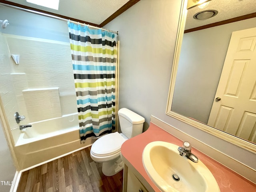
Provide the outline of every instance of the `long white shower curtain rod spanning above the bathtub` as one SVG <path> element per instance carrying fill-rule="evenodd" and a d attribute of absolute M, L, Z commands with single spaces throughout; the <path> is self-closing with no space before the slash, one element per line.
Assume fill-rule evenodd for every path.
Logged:
<path fill-rule="evenodd" d="M 41 13 L 41 12 L 38 12 L 38 11 L 29 10 L 29 9 L 25 9 L 25 8 L 13 6 L 13 5 L 8 5 L 8 4 L 4 4 L 4 3 L 0 3 L 0 5 L 6 6 L 6 7 L 11 7 L 11 8 L 18 9 L 18 10 L 23 10 L 23 11 L 26 11 L 26 12 L 32 12 L 32 13 L 35 13 L 35 14 L 39 14 L 39 15 L 43 15 L 43 16 L 55 18 L 55 19 L 58 19 L 58 20 L 66 21 L 66 22 L 69 21 L 69 22 L 72 22 L 72 23 L 75 23 L 75 24 L 80 24 L 80 25 L 84 25 L 84 26 L 87 25 L 87 26 L 89 26 L 90 28 L 101 29 L 101 30 L 108 31 L 108 32 L 112 32 L 112 33 L 115 33 L 115 34 L 118 35 L 118 31 L 112 31 L 112 30 L 108 30 L 108 29 L 96 27 L 96 26 L 93 26 L 93 25 L 89 25 L 89 24 L 85 24 L 85 23 L 81 23 L 81 22 L 77 22 L 77 21 L 72 21 L 72 20 L 70 20 L 70 19 L 65 19 L 65 18 L 62 18 L 62 17 L 58 17 L 58 16 L 46 14 L 46 13 Z"/>

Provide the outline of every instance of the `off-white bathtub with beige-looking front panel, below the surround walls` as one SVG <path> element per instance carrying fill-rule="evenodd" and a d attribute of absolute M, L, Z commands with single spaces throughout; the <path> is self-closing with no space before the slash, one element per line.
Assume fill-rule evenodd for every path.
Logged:
<path fill-rule="evenodd" d="M 40 122 L 20 130 L 14 150 L 20 170 L 29 169 L 50 160 L 65 156 L 92 144 L 81 144 L 78 114 L 64 115 Z"/>

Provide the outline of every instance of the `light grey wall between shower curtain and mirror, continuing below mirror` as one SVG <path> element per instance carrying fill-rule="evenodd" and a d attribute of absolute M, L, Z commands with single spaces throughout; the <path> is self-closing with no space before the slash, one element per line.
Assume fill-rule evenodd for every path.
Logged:
<path fill-rule="evenodd" d="M 256 170 L 255 153 L 165 113 L 180 7 L 180 1 L 140 0 L 104 26 L 120 31 L 119 108 L 145 117 L 144 131 L 153 115 Z"/>

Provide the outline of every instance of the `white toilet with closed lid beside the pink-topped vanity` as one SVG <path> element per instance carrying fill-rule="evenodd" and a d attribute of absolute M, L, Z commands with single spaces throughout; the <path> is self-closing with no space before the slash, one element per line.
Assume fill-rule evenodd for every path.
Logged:
<path fill-rule="evenodd" d="M 114 132 L 100 137 L 92 144 L 90 156 L 95 162 L 102 163 L 102 173 L 112 176 L 124 168 L 120 157 L 122 144 L 142 133 L 145 119 L 127 108 L 118 111 L 122 133 Z"/>

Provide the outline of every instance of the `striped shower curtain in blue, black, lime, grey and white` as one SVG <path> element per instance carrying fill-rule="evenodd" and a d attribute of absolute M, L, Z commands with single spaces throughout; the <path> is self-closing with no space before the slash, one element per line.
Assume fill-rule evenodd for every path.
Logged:
<path fill-rule="evenodd" d="M 115 130 L 116 34 L 68 22 L 81 141 Z"/>

